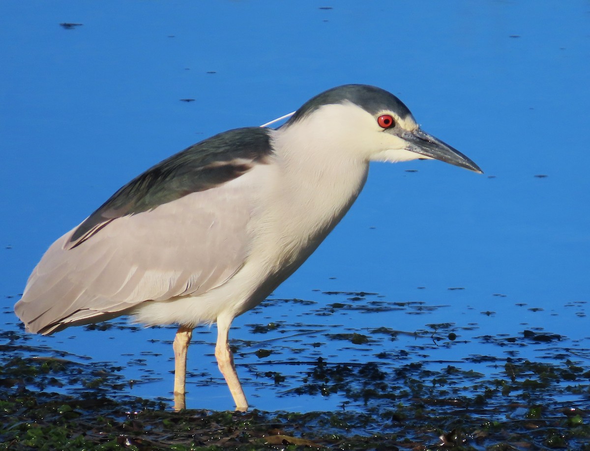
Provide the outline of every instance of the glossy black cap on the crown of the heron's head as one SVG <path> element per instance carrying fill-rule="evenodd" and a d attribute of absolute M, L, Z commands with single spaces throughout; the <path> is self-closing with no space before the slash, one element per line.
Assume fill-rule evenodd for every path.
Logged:
<path fill-rule="evenodd" d="M 293 114 L 293 116 L 291 116 L 289 121 L 284 124 L 284 127 L 288 127 L 289 124 L 301 120 L 323 105 L 343 103 L 347 100 L 371 114 L 377 114 L 380 111 L 389 110 L 394 111 L 401 118 L 412 115 L 408 110 L 408 107 L 405 106 L 399 98 L 395 97 L 394 94 L 391 94 L 388 91 L 366 84 L 345 84 L 324 91 L 316 97 L 308 100 L 295 112 L 295 114 Z"/>

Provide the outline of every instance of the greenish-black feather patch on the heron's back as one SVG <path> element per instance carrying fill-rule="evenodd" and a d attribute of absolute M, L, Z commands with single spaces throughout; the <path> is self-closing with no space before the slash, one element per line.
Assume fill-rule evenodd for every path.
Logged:
<path fill-rule="evenodd" d="M 70 237 L 74 248 L 113 219 L 134 215 L 240 177 L 272 152 L 268 129 L 249 127 L 212 136 L 135 177 L 92 213 Z"/>

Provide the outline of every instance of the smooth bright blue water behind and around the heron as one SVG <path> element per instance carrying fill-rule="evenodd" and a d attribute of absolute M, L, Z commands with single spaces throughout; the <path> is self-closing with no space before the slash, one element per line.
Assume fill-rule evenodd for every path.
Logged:
<path fill-rule="evenodd" d="M 289 332 L 281 337 L 323 332 L 317 340 L 303 335 L 303 344 L 277 337 L 273 349 L 282 354 L 266 360 L 331 355 L 333 361 L 371 361 L 382 347 L 411 352 L 415 340 L 363 347 L 324 334 L 369 334 L 382 326 L 414 332 L 451 322 L 458 342 L 467 343 L 422 350 L 415 358 L 462 361 L 504 353 L 476 337 L 541 328 L 567 337 L 563 346 L 579 348 L 588 365 L 590 5 L 446 5 L 1 2 L 4 327 L 17 327 L 11 306 L 50 243 L 132 177 L 219 131 L 293 111 L 326 88 L 367 83 L 399 96 L 424 130 L 467 154 L 485 174 L 440 162 L 375 164 L 348 216 L 273 294 L 316 304 L 277 302 L 248 312 L 231 336 L 237 343 L 266 340 L 247 324 L 285 321 Z M 83 25 L 65 29 L 62 22 Z M 336 302 L 325 291 L 444 307 L 424 314 L 320 315 L 317 310 Z M 463 330 L 470 324 L 476 329 Z M 152 338 L 158 342 L 149 343 Z M 172 338 L 169 328 L 71 328 L 31 343 L 96 361 L 131 360 L 127 377 L 147 379 L 150 370 L 158 380 L 131 393 L 168 397 L 173 366 L 163 341 Z M 219 384 L 189 383 L 189 407 L 231 408 L 212 356 L 215 328 L 195 340 L 204 343 L 193 345 L 189 365 Z M 324 344 L 313 348 L 314 341 Z M 277 400 L 283 389 L 255 376 L 265 359 L 253 355 L 256 344 L 248 349 L 236 360 L 255 406 L 316 410 L 340 401 Z M 543 350 L 519 353 L 539 357 Z M 280 363 L 266 367 L 299 371 Z"/>

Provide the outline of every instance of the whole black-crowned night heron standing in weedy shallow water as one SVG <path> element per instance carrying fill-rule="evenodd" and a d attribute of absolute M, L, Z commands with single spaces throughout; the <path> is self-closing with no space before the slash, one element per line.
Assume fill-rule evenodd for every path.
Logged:
<path fill-rule="evenodd" d="M 422 131 L 394 95 L 336 87 L 278 129 L 225 131 L 156 164 L 55 241 L 15 312 L 32 333 L 130 314 L 179 324 L 175 408 L 185 407 L 192 330 L 217 322 L 215 357 L 237 410 L 248 403 L 228 344 L 348 211 L 369 162 L 477 164 Z"/>

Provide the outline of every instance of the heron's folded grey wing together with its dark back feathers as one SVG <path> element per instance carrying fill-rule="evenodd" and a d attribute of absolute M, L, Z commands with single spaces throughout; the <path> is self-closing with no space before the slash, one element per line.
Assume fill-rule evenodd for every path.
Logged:
<path fill-rule="evenodd" d="M 232 149 L 244 146 L 230 139 L 217 160 L 193 163 L 200 183 L 183 180 L 185 150 L 134 179 L 55 241 L 15 305 L 27 330 L 52 333 L 106 320 L 143 301 L 202 294 L 230 279 L 247 258 L 248 222 L 263 183 L 257 167 L 270 152 L 267 140 L 251 147 L 249 157 L 236 154 Z M 219 167 L 225 167 L 223 177 Z M 165 177 L 156 182 L 156 174 Z"/>

